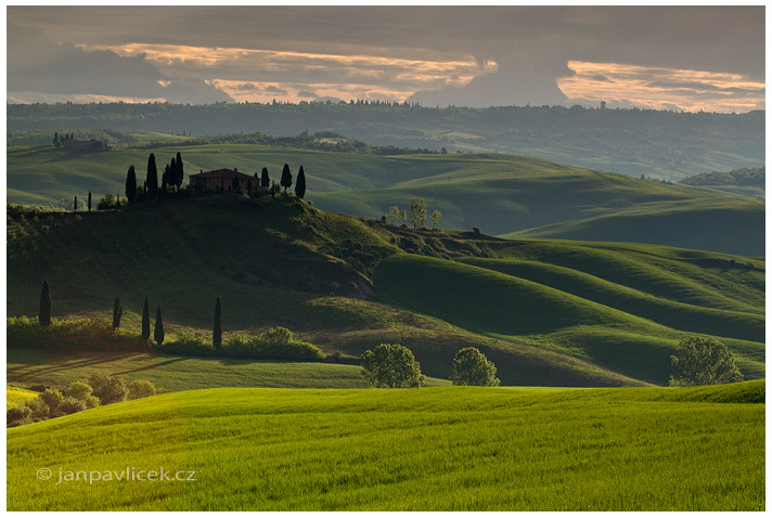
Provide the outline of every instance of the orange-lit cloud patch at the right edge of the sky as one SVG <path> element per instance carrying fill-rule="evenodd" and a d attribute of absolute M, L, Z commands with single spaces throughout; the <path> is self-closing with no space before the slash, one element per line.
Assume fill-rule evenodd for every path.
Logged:
<path fill-rule="evenodd" d="M 738 74 L 580 61 L 569 61 L 568 68 L 576 74 L 557 85 L 574 102 L 684 112 L 764 109 L 765 85 Z"/>

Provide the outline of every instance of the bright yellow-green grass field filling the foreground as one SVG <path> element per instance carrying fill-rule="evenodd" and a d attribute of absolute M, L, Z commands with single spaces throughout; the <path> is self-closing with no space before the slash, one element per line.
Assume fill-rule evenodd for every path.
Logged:
<path fill-rule="evenodd" d="M 8 508 L 763 510 L 763 381 L 175 392 L 10 429 Z M 127 467 L 195 481 L 56 484 Z"/>

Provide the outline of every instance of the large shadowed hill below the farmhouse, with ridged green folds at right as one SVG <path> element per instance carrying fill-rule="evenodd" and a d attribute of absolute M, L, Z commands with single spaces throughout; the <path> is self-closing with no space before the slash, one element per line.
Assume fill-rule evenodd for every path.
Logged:
<path fill-rule="evenodd" d="M 107 318 L 120 296 L 121 326 L 138 333 L 147 295 L 169 336 L 208 333 L 220 296 L 228 333 L 282 325 L 357 357 L 400 342 L 438 378 L 474 346 L 505 385 L 666 384 L 676 344 L 695 333 L 764 375 L 764 262 L 742 256 L 413 231 L 282 196 L 203 196 L 11 218 L 9 314 L 37 314 L 42 279 L 55 316 Z"/>

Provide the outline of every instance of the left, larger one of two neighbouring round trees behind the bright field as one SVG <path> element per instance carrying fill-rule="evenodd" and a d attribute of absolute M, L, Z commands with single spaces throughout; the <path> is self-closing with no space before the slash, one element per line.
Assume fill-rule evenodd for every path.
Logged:
<path fill-rule="evenodd" d="M 421 365 L 407 347 L 381 344 L 362 354 L 362 374 L 378 388 L 413 388 L 424 385 Z"/>

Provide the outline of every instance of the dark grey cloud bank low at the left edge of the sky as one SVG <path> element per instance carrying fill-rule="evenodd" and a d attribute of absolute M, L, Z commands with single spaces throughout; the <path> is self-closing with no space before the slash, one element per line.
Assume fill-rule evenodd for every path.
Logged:
<path fill-rule="evenodd" d="M 164 99 L 178 103 L 232 101 L 200 78 L 168 78 L 143 54 L 85 51 L 42 33 L 8 26 L 8 90 L 61 95 Z"/>

